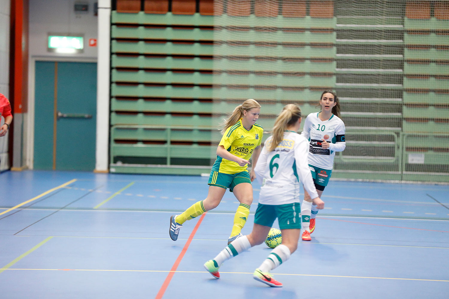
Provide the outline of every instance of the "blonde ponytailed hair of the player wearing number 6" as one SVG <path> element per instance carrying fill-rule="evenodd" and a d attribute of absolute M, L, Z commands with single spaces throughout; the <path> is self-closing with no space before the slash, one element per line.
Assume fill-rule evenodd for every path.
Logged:
<path fill-rule="evenodd" d="M 297 104 L 285 105 L 276 118 L 273 127 L 271 143 L 267 144 L 268 151 L 273 151 L 284 137 L 287 126 L 295 124 L 301 118 L 301 108 Z"/>

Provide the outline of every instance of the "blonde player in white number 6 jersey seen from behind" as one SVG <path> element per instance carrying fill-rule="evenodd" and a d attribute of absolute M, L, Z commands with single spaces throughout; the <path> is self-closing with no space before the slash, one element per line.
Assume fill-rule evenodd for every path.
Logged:
<path fill-rule="evenodd" d="M 273 134 L 266 140 L 255 166 L 256 179 L 262 187 L 253 230 L 251 234 L 232 241 L 213 260 L 204 264 L 213 277 L 220 278 L 218 269 L 225 260 L 263 243 L 278 218 L 282 244 L 277 245 L 255 269 L 253 277 L 269 286 L 282 286 L 269 271 L 288 260 L 298 247 L 301 233 L 299 182 L 303 182 L 317 208 L 324 208 L 308 168 L 308 141 L 296 133 L 300 124 L 301 109 L 295 104 L 286 105 L 277 117 Z"/>

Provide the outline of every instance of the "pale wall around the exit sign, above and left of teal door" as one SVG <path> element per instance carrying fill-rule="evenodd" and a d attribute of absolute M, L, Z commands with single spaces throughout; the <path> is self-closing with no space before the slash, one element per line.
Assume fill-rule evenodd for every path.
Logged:
<path fill-rule="evenodd" d="M 101 0 L 29 0 L 28 113 L 24 117 L 26 124 L 24 152 L 25 164 L 31 169 L 34 151 L 35 61 L 97 62 L 98 47 L 91 47 L 88 43 L 89 39 L 97 39 L 98 45 L 98 16 L 94 15 L 96 2 Z M 75 12 L 75 3 L 88 4 L 88 11 Z M 48 52 L 49 33 L 84 36 L 84 52 L 73 54 Z"/>

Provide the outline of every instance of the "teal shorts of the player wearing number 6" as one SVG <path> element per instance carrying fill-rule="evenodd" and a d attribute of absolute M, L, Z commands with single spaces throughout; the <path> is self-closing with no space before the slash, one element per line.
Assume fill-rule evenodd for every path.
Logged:
<path fill-rule="evenodd" d="M 255 211 L 254 223 L 272 227 L 274 220 L 281 230 L 301 229 L 301 207 L 292 204 L 259 204 Z"/>

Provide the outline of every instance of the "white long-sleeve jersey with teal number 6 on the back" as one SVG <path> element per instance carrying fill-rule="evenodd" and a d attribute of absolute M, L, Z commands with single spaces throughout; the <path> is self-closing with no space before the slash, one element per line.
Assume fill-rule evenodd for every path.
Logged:
<path fill-rule="evenodd" d="M 266 140 L 254 169 L 262 184 L 259 203 L 299 203 L 300 182 L 311 198 L 318 197 L 308 166 L 308 140 L 293 131 L 285 131 L 282 141 L 268 152 L 272 139 L 270 136 Z"/>

